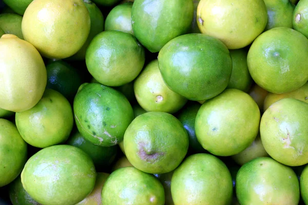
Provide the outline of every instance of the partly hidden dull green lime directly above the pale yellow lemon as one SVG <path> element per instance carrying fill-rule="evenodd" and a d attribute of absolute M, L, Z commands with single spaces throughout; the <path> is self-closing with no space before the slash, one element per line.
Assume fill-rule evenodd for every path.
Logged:
<path fill-rule="evenodd" d="M 24 39 L 22 33 L 23 16 L 15 13 L 0 14 L 0 28 L 7 34 L 13 34 L 20 39 Z"/>

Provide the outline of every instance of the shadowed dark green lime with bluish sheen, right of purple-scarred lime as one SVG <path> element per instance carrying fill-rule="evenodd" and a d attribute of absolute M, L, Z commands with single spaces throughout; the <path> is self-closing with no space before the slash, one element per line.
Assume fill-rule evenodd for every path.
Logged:
<path fill-rule="evenodd" d="M 195 132 L 195 120 L 200 107 L 200 103 L 188 101 L 185 107 L 177 113 L 177 118 L 182 122 L 187 131 L 189 139 L 188 149 L 192 153 L 205 152 L 204 148 L 200 145 Z"/>

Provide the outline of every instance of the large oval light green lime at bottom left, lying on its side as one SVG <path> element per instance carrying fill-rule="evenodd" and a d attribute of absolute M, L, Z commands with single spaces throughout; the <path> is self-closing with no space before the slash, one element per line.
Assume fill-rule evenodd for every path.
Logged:
<path fill-rule="evenodd" d="M 96 177 L 89 155 L 70 145 L 38 151 L 28 159 L 21 174 L 28 194 L 46 205 L 73 205 L 82 201 L 91 193 Z"/>

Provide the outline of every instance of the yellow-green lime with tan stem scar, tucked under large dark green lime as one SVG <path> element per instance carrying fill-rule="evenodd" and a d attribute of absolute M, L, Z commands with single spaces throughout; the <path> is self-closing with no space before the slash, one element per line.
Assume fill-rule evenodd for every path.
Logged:
<path fill-rule="evenodd" d="M 187 102 L 165 84 L 157 59 L 152 60 L 134 80 L 133 88 L 139 105 L 147 112 L 175 113 Z"/>

